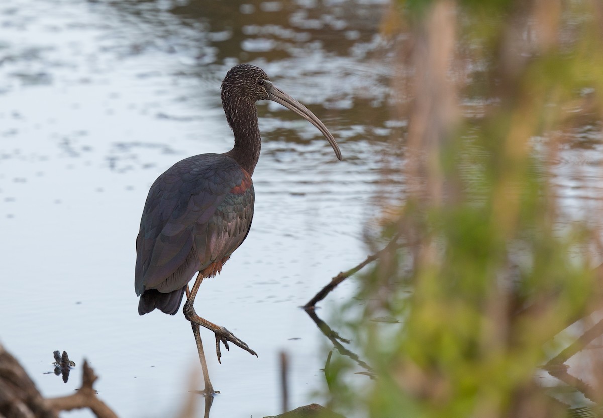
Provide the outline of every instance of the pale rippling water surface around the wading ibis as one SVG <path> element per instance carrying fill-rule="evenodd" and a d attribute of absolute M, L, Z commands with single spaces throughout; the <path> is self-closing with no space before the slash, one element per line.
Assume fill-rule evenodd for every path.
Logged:
<path fill-rule="evenodd" d="M 395 51 L 378 34 L 386 7 L 385 0 L 0 5 L 0 338 L 44 395 L 77 388 L 77 379 L 58 385 L 42 374 L 48 352 L 69 347 L 76 363 L 90 360 L 99 396 L 120 416 L 165 416 L 187 399 L 189 370 L 198 368 L 189 326 L 180 314 L 136 314 L 134 239 L 159 173 L 232 146 L 219 86 L 227 69 L 250 62 L 324 122 L 344 161 L 313 126 L 259 104 L 254 226 L 221 276 L 201 285 L 197 303 L 201 316 L 244 334 L 259 359 L 231 351 L 222 365 L 210 362 L 222 393 L 212 414 L 276 414 L 283 349 L 291 354 L 291 405 L 320 402 L 310 394 L 324 381 L 324 337 L 298 306 L 370 252 L 363 237 L 379 213 L 376 191 L 403 189 L 397 167 L 406 123 L 390 114 Z M 600 126 L 576 129 L 566 144 L 555 181 L 569 216 L 579 216 L 602 192 Z M 352 286 L 341 284 L 323 303 L 346 299 Z M 57 332 L 65 318 L 69 330 Z"/>

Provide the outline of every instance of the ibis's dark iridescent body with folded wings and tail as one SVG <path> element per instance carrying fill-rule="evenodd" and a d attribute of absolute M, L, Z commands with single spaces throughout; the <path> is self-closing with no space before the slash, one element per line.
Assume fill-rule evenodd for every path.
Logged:
<path fill-rule="evenodd" d="M 253 202 L 251 176 L 226 154 L 185 158 L 160 175 L 136 238 L 139 313 L 176 313 L 196 272 L 219 272 L 247 237 Z"/>

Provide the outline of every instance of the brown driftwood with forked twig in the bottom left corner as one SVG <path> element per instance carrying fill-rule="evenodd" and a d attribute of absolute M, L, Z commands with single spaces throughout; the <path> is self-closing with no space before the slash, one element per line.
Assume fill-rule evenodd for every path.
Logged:
<path fill-rule="evenodd" d="M 44 399 L 21 364 L 0 345 L 0 417 L 58 418 L 60 411 L 90 408 L 98 418 L 117 418 L 93 388 L 98 377 L 84 362 L 81 388 L 74 395 Z"/>

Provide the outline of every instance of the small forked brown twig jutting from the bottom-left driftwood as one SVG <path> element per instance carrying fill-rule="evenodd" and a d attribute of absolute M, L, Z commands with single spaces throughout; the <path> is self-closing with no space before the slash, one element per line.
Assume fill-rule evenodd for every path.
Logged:
<path fill-rule="evenodd" d="M 57 413 L 59 411 L 90 408 L 98 418 L 117 418 L 115 413 L 96 397 L 96 391 L 92 387 L 96 379 L 98 377 L 95 375 L 94 370 L 88 365 L 87 361 L 84 361 L 84 372 L 80 390 L 74 393 L 74 395 L 46 399 L 46 406 Z"/>

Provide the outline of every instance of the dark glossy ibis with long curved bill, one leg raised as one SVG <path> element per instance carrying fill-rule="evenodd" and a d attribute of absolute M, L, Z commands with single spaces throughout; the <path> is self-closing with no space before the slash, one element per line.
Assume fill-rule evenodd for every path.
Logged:
<path fill-rule="evenodd" d="M 200 326 L 226 349 L 231 342 L 253 355 L 247 344 L 223 326 L 195 312 L 193 306 L 204 278 L 215 276 L 247 237 L 253 218 L 254 191 L 251 175 L 260 155 L 260 131 L 255 102 L 271 100 L 294 111 L 326 137 L 341 160 L 341 152 L 314 114 L 278 89 L 258 67 L 233 67 L 222 82 L 222 105 L 235 135 L 235 146 L 224 154 L 200 154 L 185 158 L 159 176 L 149 190 L 140 231 L 136 238 L 136 294 L 138 313 L 155 308 L 175 314 L 186 292 L 186 319 L 191 322 L 205 381 L 204 393 L 213 393 L 201 345 Z M 198 272 L 189 292 L 188 282 Z"/>

